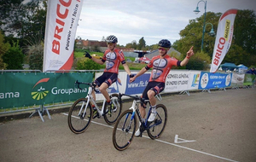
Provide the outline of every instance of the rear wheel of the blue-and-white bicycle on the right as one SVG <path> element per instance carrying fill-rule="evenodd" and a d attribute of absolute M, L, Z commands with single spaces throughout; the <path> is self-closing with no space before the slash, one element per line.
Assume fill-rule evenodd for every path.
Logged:
<path fill-rule="evenodd" d="M 156 118 L 154 121 L 149 125 L 148 136 L 151 139 L 159 138 L 166 128 L 167 122 L 167 109 L 166 106 L 163 104 L 159 104 L 156 106 Z"/>

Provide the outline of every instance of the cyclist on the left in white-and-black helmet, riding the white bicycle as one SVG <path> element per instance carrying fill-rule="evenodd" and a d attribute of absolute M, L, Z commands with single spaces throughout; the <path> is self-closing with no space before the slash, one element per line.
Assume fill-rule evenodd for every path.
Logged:
<path fill-rule="evenodd" d="M 113 35 L 108 36 L 107 38 L 108 49 L 104 52 L 102 60 L 98 60 L 94 57 L 91 57 L 88 52 L 85 52 L 85 57 L 90 58 L 92 61 L 95 61 L 98 64 L 102 65 L 104 62 L 106 62 L 106 68 L 102 76 L 100 76 L 99 78 L 96 78 L 93 84 L 95 84 L 96 87 L 99 87 L 99 90 L 102 92 L 102 95 L 104 95 L 104 97 L 106 98 L 109 106 L 111 106 L 112 103 L 110 101 L 107 88 L 117 80 L 120 63 L 123 64 L 125 68 L 125 72 L 128 73 L 129 77 L 130 78 L 133 77 L 133 75 L 131 74 L 130 68 L 127 66 L 125 62 L 125 55 L 121 50 L 115 48 L 117 42 L 118 42 L 118 39 L 115 36 Z M 92 93 L 92 96 L 96 100 L 96 95 L 94 91 Z"/>

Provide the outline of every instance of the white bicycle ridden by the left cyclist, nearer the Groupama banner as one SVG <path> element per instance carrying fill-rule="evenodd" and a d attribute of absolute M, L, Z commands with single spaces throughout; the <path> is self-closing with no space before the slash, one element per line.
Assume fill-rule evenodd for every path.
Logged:
<path fill-rule="evenodd" d="M 109 95 L 112 101 L 111 108 L 108 109 L 105 98 L 102 103 L 102 108 L 100 108 L 91 95 L 92 90 L 99 92 L 99 90 L 96 90 L 96 86 L 92 83 L 84 83 L 77 80 L 75 86 L 77 86 L 79 90 L 83 90 L 80 88 L 80 84 L 89 85 L 88 93 L 85 98 L 79 98 L 75 101 L 70 108 L 67 117 L 69 129 L 75 134 L 83 133 L 89 127 L 91 119 L 100 119 L 102 117 L 104 117 L 107 124 L 114 124 L 122 110 L 119 95 Z M 91 107 L 91 104 L 95 105 L 95 109 Z"/>

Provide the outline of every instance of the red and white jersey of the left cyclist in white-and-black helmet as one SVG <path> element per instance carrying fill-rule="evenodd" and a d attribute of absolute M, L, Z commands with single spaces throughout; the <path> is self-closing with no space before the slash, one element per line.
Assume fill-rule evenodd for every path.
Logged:
<path fill-rule="evenodd" d="M 107 49 L 102 57 L 102 61 L 106 61 L 104 72 L 119 73 L 120 63 L 125 64 L 125 55 L 119 49 L 114 49 L 113 51 Z"/>

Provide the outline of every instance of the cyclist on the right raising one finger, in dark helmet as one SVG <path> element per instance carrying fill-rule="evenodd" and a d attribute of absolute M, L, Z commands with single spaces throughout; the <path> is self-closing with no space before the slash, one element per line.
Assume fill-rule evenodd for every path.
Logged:
<path fill-rule="evenodd" d="M 167 39 L 162 39 L 159 42 L 159 54 L 152 58 L 152 60 L 148 63 L 146 67 L 143 67 L 140 72 L 137 72 L 137 74 L 130 78 L 130 82 L 133 82 L 137 77 L 143 75 L 144 72 L 147 72 L 150 68 L 153 68 L 149 82 L 145 90 L 143 91 L 143 98 L 146 100 L 149 100 L 150 105 L 152 107 L 152 111 L 150 113 L 150 116 L 148 118 L 148 122 L 152 122 L 155 119 L 156 116 L 156 99 L 155 95 L 159 94 L 161 91 L 165 89 L 165 82 L 166 82 L 166 76 L 170 72 L 173 66 L 180 66 L 183 67 L 187 65 L 189 62 L 189 58 L 194 55 L 193 52 L 193 46 L 189 49 L 187 52 L 187 56 L 184 58 L 183 61 L 178 61 L 175 58 L 170 57 L 167 55 L 168 50 L 171 48 L 171 43 Z M 141 105 L 139 107 L 140 113 L 143 117 L 143 120 L 145 121 L 146 116 L 146 110 L 145 106 Z M 140 136 L 141 132 L 140 129 L 138 129 L 135 132 L 135 136 Z"/>

